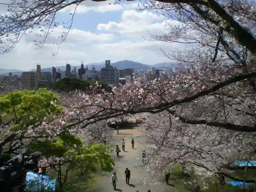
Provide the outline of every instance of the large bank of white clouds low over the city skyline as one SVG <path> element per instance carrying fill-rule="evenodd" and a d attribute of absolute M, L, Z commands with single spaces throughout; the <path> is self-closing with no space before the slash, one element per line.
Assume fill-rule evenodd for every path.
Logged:
<path fill-rule="evenodd" d="M 35 50 L 33 40 L 36 38 L 36 33 L 34 32 L 26 35 L 11 52 L 0 56 L 0 68 L 30 70 L 37 64 L 44 68 L 62 66 L 66 63 L 79 65 L 80 60 L 84 60 L 86 64 L 102 62 L 106 59 L 111 59 L 112 62 L 128 59 L 145 64 L 166 62 L 169 60 L 161 49 L 169 51 L 179 49 L 181 46 L 160 41 L 146 41 L 141 37 L 148 34 L 147 31 L 153 34 L 167 32 L 166 23 L 177 24 L 175 21 L 163 21 L 163 19 L 162 15 L 148 11 L 125 10 L 121 18 L 114 18 L 110 23 L 98 25 L 99 32 L 108 33 L 95 34 L 72 29 L 60 47 L 58 55 L 54 57 L 52 53 L 56 53 L 58 46 L 53 45 L 53 42 L 58 42 L 62 29 L 60 27 L 54 29 L 45 46 L 40 50 Z M 116 22 L 117 20 L 120 22 Z M 97 26 L 97 24 L 92 25 Z"/>

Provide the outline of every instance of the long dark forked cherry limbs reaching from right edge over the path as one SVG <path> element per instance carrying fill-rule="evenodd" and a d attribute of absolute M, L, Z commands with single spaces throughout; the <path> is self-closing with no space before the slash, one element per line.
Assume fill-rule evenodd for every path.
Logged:
<path fill-rule="evenodd" d="M 194 101 L 200 97 L 206 96 L 208 94 L 214 93 L 216 91 L 218 91 L 219 89 L 228 86 L 231 83 L 235 83 L 238 81 L 242 81 L 245 79 L 250 79 L 253 78 L 254 76 L 256 76 L 256 72 L 252 72 L 249 74 L 243 74 L 243 75 L 239 75 L 239 76 L 234 76 L 232 78 L 229 78 L 223 82 L 220 82 L 218 84 L 216 84 L 215 86 L 207 89 L 207 90 L 203 90 L 201 92 L 198 92 L 192 96 L 183 98 L 183 99 L 179 99 L 179 100 L 173 100 L 171 102 L 162 102 L 161 104 L 158 104 L 157 106 L 150 106 L 150 107 L 146 107 L 146 108 L 141 108 L 141 109 L 127 109 L 127 110 L 123 110 L 123 109 L 117 109 L 117 108 L 105 108 L 102 107 L 103 110 L 101 112 L 104 113 L 97 113 L 94 114 L 90 117 L 84 118 L 74 124 L 70 124 L 68 127 L 71 127 L 73 125 L 76 124 L 80 124 L 80 123 L 84 123 L 84 125 L 82 127 L 86 127 L 89 124 L 95 123 L 99 120 L 106 120 L 109 118 L 115 118 L 121 115 L 125 115 L 125 114 L 131 114 L 131 115 L 135 115 L 138 113 L 146 113 L 146 112 L 150 112 L 150 113 L 159 113 L 162 111 L 165 111 L 169 108 L 172 108 L 173 106 L 179 105 L 179 104 L 184 104 L 184 103 L 188 103 L 191 101 Z M 172 112 L 173 113 L 173 112 Z M 182 117 L 181 117 L 182 119 Z M 216 127 L 223 127 L 224 129 L 228 129 L 228 130 L 234 130 L 234 131 L 242 131 L 242 132 L 255 132 L 256 131 L 256 127 L 251 127 L 251 126 L 246 126 L 246 125 L 234 125 L 231 123 L 220 123 L 220 122 L 207 122 L 206 120 L 189 120 L 189 119 L 183 119 L 183 121 L 186 121 L 187 123 L 191 123 L 191 124 L 207 124 L 209 126 L 216 126 Z"/>

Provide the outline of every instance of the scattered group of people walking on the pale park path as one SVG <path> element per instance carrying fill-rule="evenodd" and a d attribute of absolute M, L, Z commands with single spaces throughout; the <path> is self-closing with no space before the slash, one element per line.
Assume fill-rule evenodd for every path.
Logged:
<path fill-rule="evenodd" d="M 132 148 L 134 149 L 135 141 L 134 141 L 133 138 L 132 138 L 131 144 L 132 144 Z M 122 145 L 122 151 L 125 152 L 125 141 L 124 141 L 124 139 L 121 141 L 121 145 Z M 121 150 L 120 150 L 119 146 L 116 145 L 116 155 L 117 155 L 117 157 L 120 157 L 119 156 L 120 152 L 121 152 Z M 145 152 L 145 150 L 143 150 L 143 152 L 142 152 L 142 164 L 145 165 L 145 163 L 146 163 L 146 152 Z M 125 175 L 126 184 L 129 184 L 130 178 L 131 178 L 131 170 L 129 170 L 129 168 L 125 168 L 124 175 Z M 116 175 L 116 172 L 114 172 L 113 175 L 111 176 L 111 183 L 112 183 L 114 189 L 116 189 L 117 181 L 118 181 L 117 180 L 117 175 Z M 139 191 L 137 190 L 136 192 L 139 192 Z M 151 191 L 148 190 L 147 192 L 151 192 Z"/>

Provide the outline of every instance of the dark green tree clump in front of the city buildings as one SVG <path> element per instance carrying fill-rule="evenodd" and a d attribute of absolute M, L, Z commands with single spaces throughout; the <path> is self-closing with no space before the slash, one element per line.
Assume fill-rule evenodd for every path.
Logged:
<path fill-rule="evenodd" d="M 63 78 L 52 83 L 51 88 L 58 92 L 88 91 L 96 87 L 96 82 L 101 86 L 101 89 L 111 91 L 111 88 L 104 81 L 82 80 L 79 78 Z"/>

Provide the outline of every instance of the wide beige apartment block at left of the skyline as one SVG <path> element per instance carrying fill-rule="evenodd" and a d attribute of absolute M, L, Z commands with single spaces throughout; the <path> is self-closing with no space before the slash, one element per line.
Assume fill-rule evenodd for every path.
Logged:
<path fill-rule="evenodd" d="M 37 72 L 23 72 L 22 73 L 22 88 L 34 90 L 37 89 L 39 75 Z"/>

